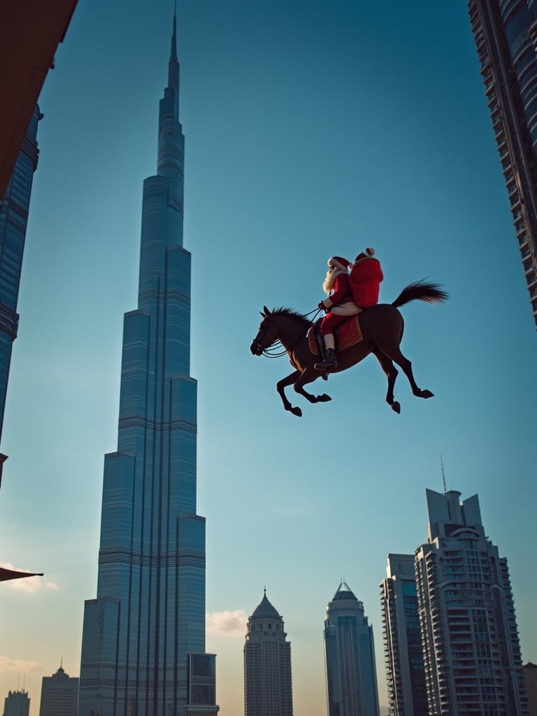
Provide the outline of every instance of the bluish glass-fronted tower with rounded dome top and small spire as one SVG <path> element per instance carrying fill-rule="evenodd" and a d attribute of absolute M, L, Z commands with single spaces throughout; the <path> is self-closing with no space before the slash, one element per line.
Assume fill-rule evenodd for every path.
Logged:
<path fill-rule="evenodd" d="M 326 607 L 324 654 L 329 716 L 379 716 L 373 628 L 346 582 Z"/>

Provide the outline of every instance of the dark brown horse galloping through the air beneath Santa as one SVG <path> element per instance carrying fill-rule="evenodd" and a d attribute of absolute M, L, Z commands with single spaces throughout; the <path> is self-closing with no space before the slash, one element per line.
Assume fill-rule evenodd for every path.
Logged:
<path fill-rule="evenodd" d="M 421 390 L 417 387 L 412 364 L 405 358 L 400 350 L 400 343 L 403 334 L 404 321 L 397 310 L 399 306 L 409 301 L 427 301 L 430 304 L 437 304 L 445 301 L 448 294 L 438 284 L 430 284 L 427 281 L 415 281 L 403 289 L 392 304 L 377 304 L 365 309 L 359 314 L 359 324 L 362 330 L 363 339 L 361 342 L 350 346 L 338 353 L 337 368 L 330 372 L 347 370 L 356 363 L 363 360 L 369 353 L 372 353 L 380 363 L 382 370 L 388 379 L 388 391 L 386 402 L 395 412 L 400 412 L 400 404 L 394 400 L 393 389 L 397 378 L 397 368 L 394 362 L 402 369 L 410 382 L 412 393 L 420 398 L 432 397 L 430 390 Z M 304 385 L 314 382 L 317 378 L 326 378 L 326 371 L 314 368 L 319 362 L 319 356 L 314 355 L 309 349 L 307 333 L 311 328 L 311 321 L 291 309 L 274 309 L 269 311 L 263 306 L 263 321 L 259 326 L 258 333 L 253 339 L 250 350 L 253 355 L 269 354 L 266 352 L 276 342 L 281 342 L 289 355 L 294 371 L 287 377 L 282 378 L 276 384 L 281 400 L 284 402 L 285 410 L 290 410 L 293 415 L 301 417 L 302 411 L 299 407 L 293 407 L 285 395 L 285 388 L 292 385 L 294 390 L 309 400 L 309 402 L 326 402 L 332 400 L 329 395 L 311 395 L 304 390 Z"/>

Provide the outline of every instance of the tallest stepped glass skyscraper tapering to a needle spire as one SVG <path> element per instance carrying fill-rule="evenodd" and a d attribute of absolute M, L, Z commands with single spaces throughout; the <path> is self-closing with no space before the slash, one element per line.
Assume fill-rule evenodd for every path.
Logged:
<path fill-rule="evenodd" d="M 215 657 L 204 653 L 205 518 L 196 514 L 178 112 L 174 14 L 157 175 L 143 188 L 138 307 L 123 326 L 117 452 L 105 455 L 97 599 L 84 606 L 79 716 L 218 711 Z"/>

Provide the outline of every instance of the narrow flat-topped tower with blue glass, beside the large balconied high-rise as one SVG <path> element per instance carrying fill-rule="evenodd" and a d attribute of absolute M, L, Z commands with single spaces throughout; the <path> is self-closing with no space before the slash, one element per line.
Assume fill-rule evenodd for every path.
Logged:
<path fill-rule="evenodd" d="M 380 584 L 390 716 L 429 716 L 413 554 L 389 554 Z"/>

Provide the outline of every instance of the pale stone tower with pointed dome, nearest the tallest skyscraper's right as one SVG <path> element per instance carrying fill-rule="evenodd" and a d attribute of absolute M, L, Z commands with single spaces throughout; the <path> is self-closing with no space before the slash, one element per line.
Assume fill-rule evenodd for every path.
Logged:
<path fill-rule="evenodd" d="M 284 620 L 263 594 L 248 617 L 244 644 L 244 715 L 293 716 L 291 644 Z"/>

